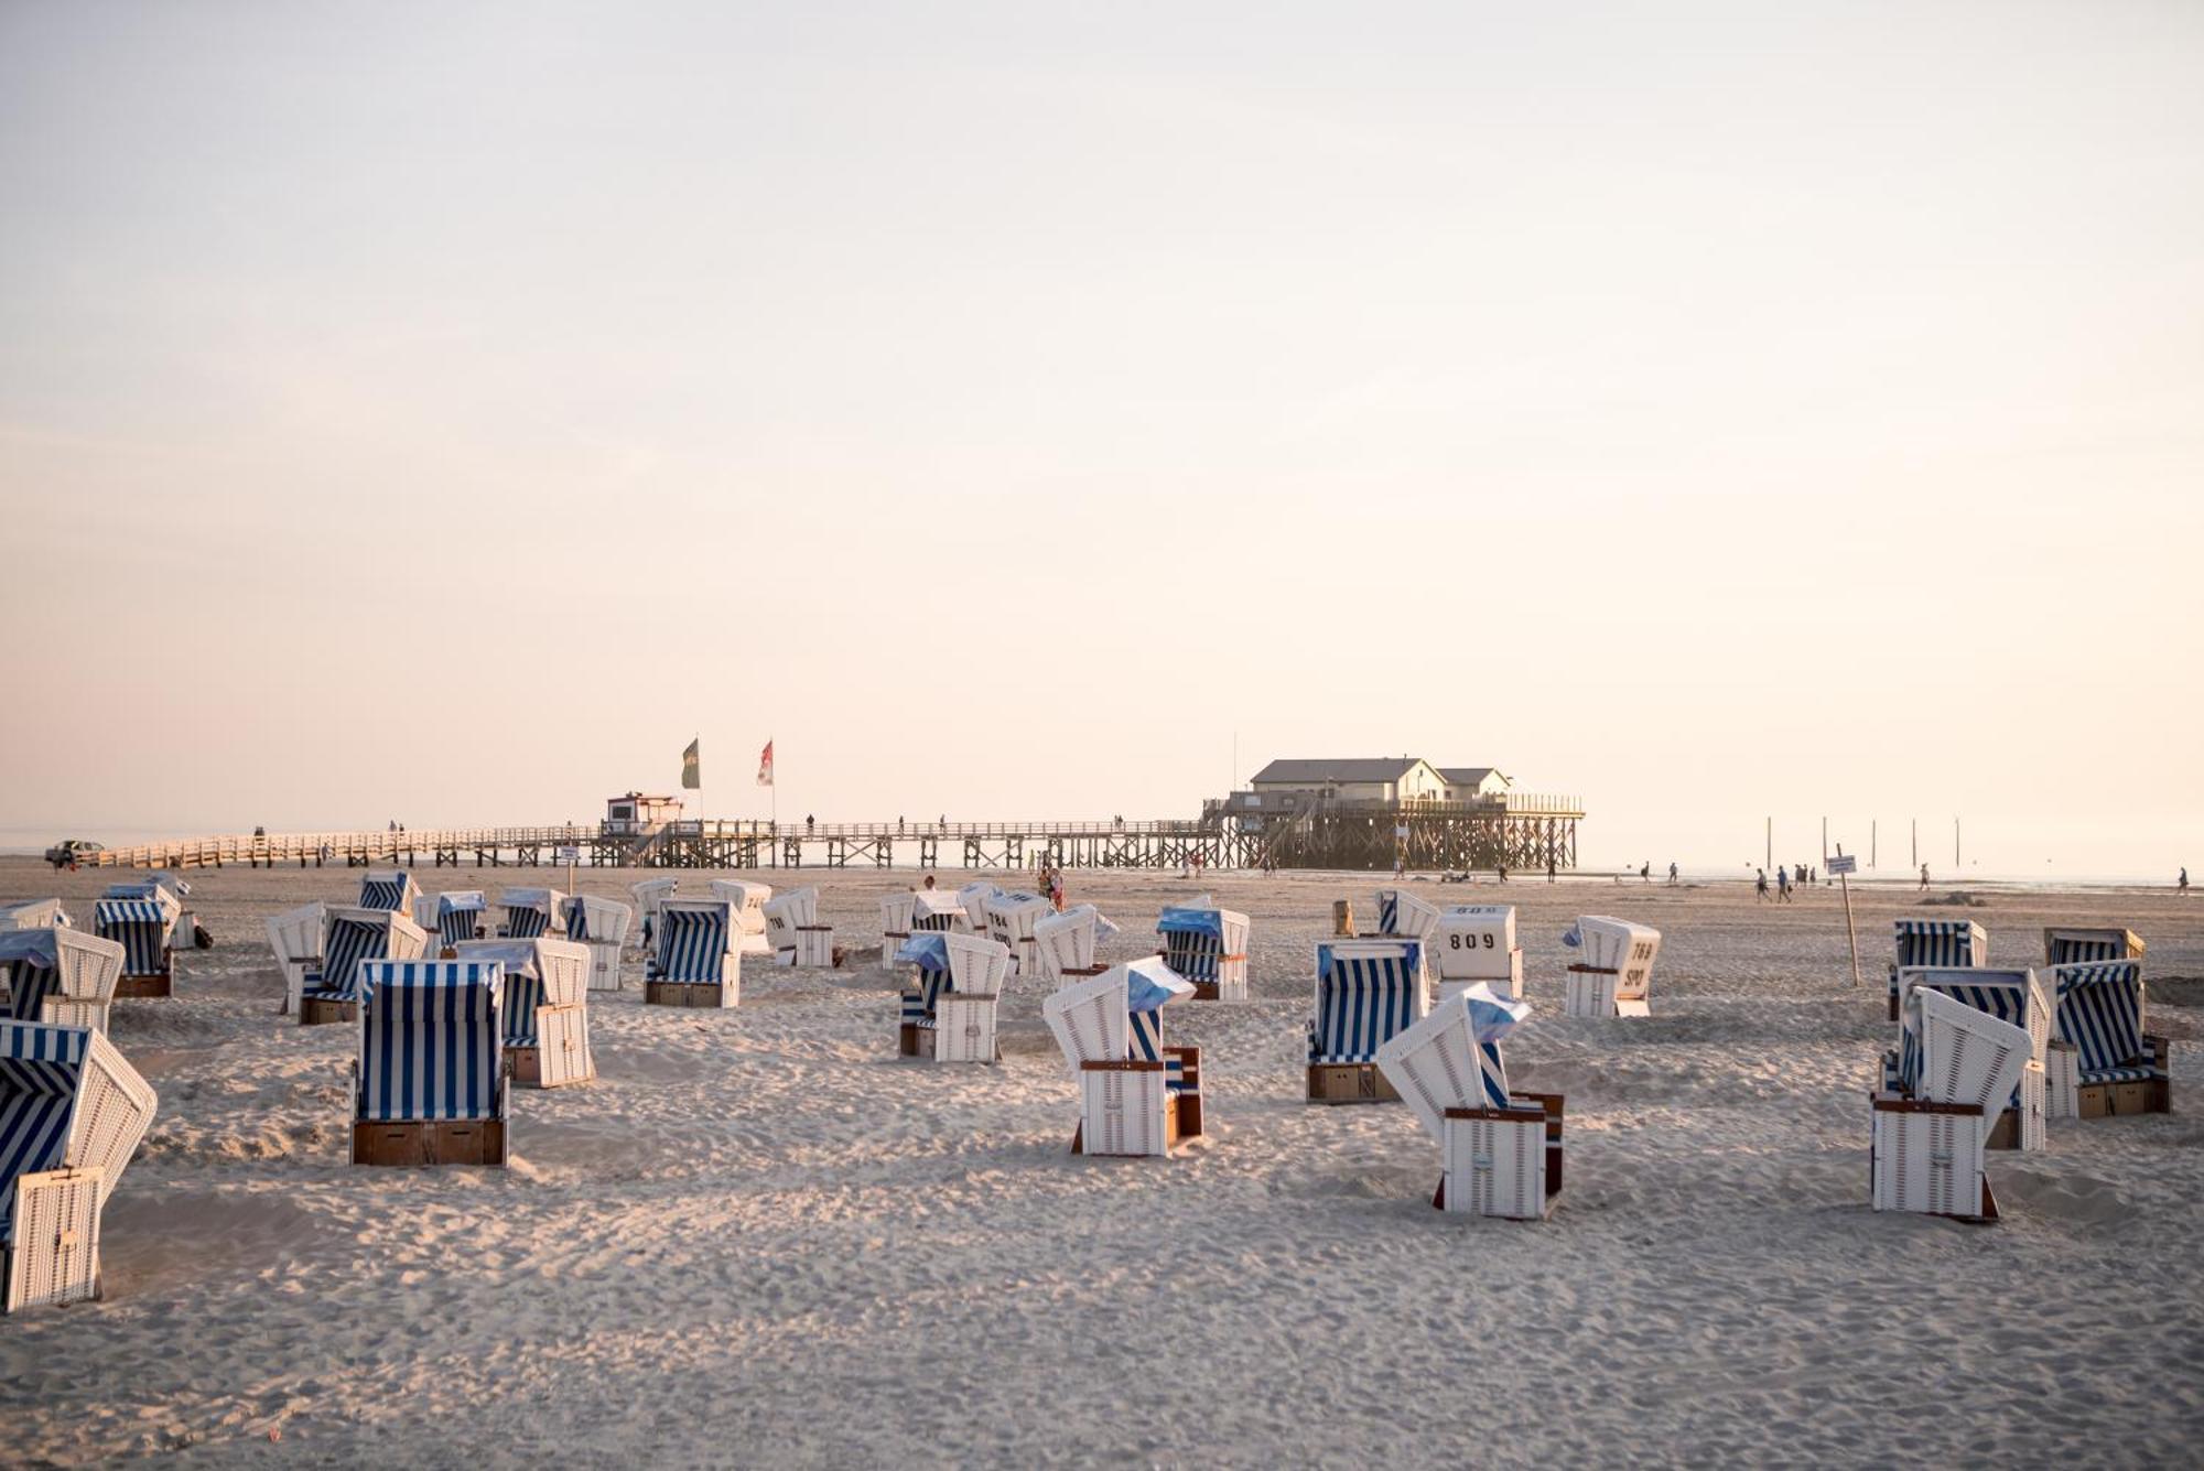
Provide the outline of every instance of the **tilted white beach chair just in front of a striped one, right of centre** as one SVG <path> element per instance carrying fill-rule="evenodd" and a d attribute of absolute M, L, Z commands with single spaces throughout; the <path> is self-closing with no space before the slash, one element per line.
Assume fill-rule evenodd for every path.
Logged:
<path fill-rule="evenodd" d="M 1378 1048 L 1393 1092 L 1439 1145 L 1430 1202 L 1459 1216 L 1541 1220 L 1560 1194 L 1560 1094 L 1508 1086 L 1501 1039 L 1530 1004 L 1472 982 Z"/>

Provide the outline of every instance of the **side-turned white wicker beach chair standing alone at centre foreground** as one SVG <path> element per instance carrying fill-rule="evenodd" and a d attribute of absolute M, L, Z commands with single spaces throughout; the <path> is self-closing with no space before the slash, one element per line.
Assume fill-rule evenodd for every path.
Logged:
<path fill-rule="evenodd" d="M 1162 958 L 1115 965 L 1040 1002 L 1080 1083 L 1073 1154 L 1155 1156 L 1201 1136 L 1201 1048 L 1164 1046 L 1164 1006 L 1192 998 Z"/>

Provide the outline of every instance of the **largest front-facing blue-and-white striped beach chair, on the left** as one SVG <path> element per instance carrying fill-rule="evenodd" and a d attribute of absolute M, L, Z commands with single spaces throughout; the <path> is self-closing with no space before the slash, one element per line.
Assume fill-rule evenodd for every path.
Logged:
<path fill-rule="evenodd" d="M 361 965 L 355 1165 L 503 1165 L 507 1094 L 496 960 Z"/>

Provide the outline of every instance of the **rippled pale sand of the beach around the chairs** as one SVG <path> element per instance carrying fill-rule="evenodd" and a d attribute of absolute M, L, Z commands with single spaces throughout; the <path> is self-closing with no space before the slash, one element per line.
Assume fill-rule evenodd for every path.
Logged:
<path fill-rule="evenodd" d="M 9 859 L 0 894 L 112 876 Z M 1911 894 L 1858 894 L 1856 991 L 1834 892 L 1512 883 L 1536 1015 L 1510 1070 L 1567 1094 L 1567 1191 L 1545 1224 L 1461 1224 L 1408 1110 L 1300 1101 L 1311 945 L 1373 876 L 1199 885 L 1254 918 L 1254 1000 L 1168 1015 L 1210 1119 L 1173 1161 L 1067 1154 L 1038 980 L 1005 1000 L 1003 1066 L 897 1061 L 871 947 L 915 874 L 800 876 L 851 969 L 752 962 L 730 1013 L 644 1009 L 630 969 L 593 1000 L 599 1081 L 514 1092 L 511 1169 L 379 1172 L 346 1163 L 350 1031 L 276 1015 L 262 938 L 359 874 L 190 874 L 216 949 L 181 956 L 176 1000 L 115 1009 L 161 1114 L 106 1211 L 106 1299 L 0 1319 L 0 1460 L 2193 1464 L 2204 903 L 1970 909 L 1992 962 L 2036 960 L 2045 923 L 2131 925 L 2175 1039 L 2173 1114 L 1995 1154 L 1984 1229 L 1867 1209 Z M 1106 960 L 1192 892 L 1071 874 L 1124 927 Z M 1585 912 L 1664 931 L 1651 1020 L 1558 1015 Z"/>

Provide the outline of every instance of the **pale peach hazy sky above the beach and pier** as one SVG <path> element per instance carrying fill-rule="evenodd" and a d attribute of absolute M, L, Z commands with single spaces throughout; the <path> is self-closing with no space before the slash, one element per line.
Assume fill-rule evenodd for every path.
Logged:
<path fill-rule="evenodd" d="M 694 736 L 714 817 L 1415 753 L 1587 863 L 2171 876 L 2200 64 L 2131 0 L 15 0 L 0 841 L 588 819 Z"/>

